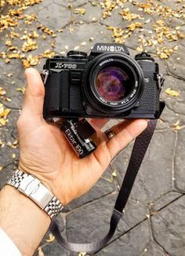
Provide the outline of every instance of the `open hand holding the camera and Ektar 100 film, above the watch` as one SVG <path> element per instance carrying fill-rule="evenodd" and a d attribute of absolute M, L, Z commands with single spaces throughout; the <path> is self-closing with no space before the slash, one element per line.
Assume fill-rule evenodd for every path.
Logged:
<path fill-rule="evenodd" d="M 111 159 L 147 127 L 147 121 L 122 121 L 111 128 L 115 136 L 108 140 L 100 131 L 101 121 L 94 120 L 101 142 L 93 153 L 78 159 L 60 128 L 43 119 L 45 88 L 38 71 L 28 68 L 25 74 L 27 88 L 17 121 L 19 168 L 38 177 L 66 205 L 93 187 Z"/>

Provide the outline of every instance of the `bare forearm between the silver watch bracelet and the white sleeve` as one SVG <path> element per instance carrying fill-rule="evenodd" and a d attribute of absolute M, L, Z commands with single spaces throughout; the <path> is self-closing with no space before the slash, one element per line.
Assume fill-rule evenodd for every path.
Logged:
<path fill-rule="evenodd" d="M 49 228 L 50 218 L 31 199 L 6 185 L 0 192 L 0 227 L 23 255 L 32 255 Z"/>

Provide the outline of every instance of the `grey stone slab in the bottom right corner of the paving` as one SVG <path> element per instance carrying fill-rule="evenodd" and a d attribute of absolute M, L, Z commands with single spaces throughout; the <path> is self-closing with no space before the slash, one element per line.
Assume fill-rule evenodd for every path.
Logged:
<path fill-rule="evenodd" d="M 151 218 L 154 239 L 172 256 L 184 255 L 184 203 L 182 196 Z"/>

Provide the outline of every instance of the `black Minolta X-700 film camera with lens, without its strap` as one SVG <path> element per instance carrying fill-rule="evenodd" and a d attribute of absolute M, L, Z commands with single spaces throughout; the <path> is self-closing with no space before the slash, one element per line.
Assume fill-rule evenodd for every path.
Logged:
<path fill-rule="evenodd" d="M 89 56 L 70 51 L 44 65 L 44 117 L 157 119 L 163 85 L 147 53 L 129 57 L 122 44 L 97 43 Z"/>

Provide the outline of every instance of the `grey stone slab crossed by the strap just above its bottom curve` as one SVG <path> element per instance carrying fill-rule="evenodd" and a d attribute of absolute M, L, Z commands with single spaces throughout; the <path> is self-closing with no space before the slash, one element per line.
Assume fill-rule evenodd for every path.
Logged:
<path fill-rule="evenodd" d="M 66 230 L 69 240 L 73 240 L 74 243 L 87 243 L 103 238 L 109 229 L 116 196 L 106 196 L 67 214 Z M 146 214 L 147 208 L 143 204 L 129 200 L 114 239 L 146 219 Z"/>

